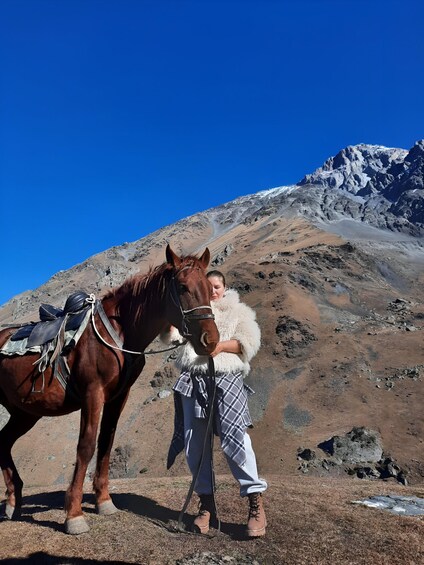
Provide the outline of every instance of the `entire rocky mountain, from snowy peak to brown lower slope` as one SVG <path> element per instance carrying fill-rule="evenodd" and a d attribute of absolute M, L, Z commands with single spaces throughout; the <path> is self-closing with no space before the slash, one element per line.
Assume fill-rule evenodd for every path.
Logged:
<path fill-rule="evenodd" d="M 185 253 L 207 245 L 262 329 L 248 377 L 262 474 L 357 474 L 369 462 L 348 464 L 319 446 L 366 427 L 407 482 L 421 481 L 423 179 L 422 141 L 410 151 L 348 147 L 296 185 L 238 198 L 57 273 L 6 303 L 0 323 L 33 319 L 41 302 L 63 305 L 76 289 L 100 295 L 162 262 L 168 242 Z M 148 359 L 120 420 L 113 477 L 166 474 L 175 376 L 172 356 Z M 77 437 L 78 414 L 39 422 L 14 451 L 26 484 L 66 483 Z M 305 463 L 299 454 L 308 449 Z M 226 472 L 219 454 L 216 466 Z M 168 475 L 186 473 L 180 459 Z"/>

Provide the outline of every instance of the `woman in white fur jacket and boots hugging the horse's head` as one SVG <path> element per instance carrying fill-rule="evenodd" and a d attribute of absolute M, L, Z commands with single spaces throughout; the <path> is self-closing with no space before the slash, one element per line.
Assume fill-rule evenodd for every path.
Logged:
<path fill-rule="evenodd" d="M 221 447 L 234 478 L 240 484 L 240 495 L 248 497 L 249 517 L 246 533 L 249 537 L 265 534 L 266 518 L 262 493 L 267 483 L 259 478 L 256 457 L 246 432 L 252 427 L 247 395 L 252 389 L 244 383 L 250 370 L 249 361 L 259 350 L 261 334 L 255 312 L 240 302 L 235 290 L 227 289 L 220 271 L 210 271 L 211 306 L 220 341 L 211 354 L 216 373 L 216 403 L 214 430 L 221 439 Z M 167 341 L 181 336 L 171 328 Z M 187 343 L 178 354 L 176 366 L 181 374 L 175 383 L 175 430 L 168 454 L 168 469 L 177 454 L 185 448 L 188 466 L 193 476 L 198 473 L 195 492 L 199 495 L 199 513 L 194 529 L 209 531 L 211 515 L 215 514 L 214 484 L 211 472 L 211 445 L 204 439 L 207 428 L 208 358 L 198 356 Z M 199 462 L 203 460 L 200 469 Z"/>

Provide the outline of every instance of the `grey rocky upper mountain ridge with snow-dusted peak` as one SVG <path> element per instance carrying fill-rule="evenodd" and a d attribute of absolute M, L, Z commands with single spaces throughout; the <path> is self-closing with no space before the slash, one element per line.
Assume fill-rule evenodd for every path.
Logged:
<path fill-rule="evenodd" d="M 66 280 L 68 273 L 73 274 L 84 267 L 96 270 L 98 258 L 103 254 L 113 264 L 106 272 L 97 269 L 97 276 L 88 277 L 90 284 L 94 282 L 98 290 L 120 284 L 137 269 L 119 268 L 119 262 L 135 265 L 143 259 L 144 266 L 146 257 L 156 260 L 155 249 L 165 241 L 179 240 L 179 234 L 188 226 L 190 230 L 209 232 L 207 241 L 213 241 L 239 223 L 257 221 L 258 217 L 264 216 L 272 221 L 273 217 L 284 215 L 306 217 L 321 225 L 352 219 L 419 238 L 424 234 L 423 178 L 423 140 L 417 141 L 409 151 L 367 144 L 348 146 L 295 185 L 240 196 L 162 227 L 140 240 L 111 247 L 66 271 L 59 271 L 38 289 L 25 291 L 2 305 L 0 321 L 16 321 L 27 315 L 33 302 L 45 300 L 51 294 L 48 289 L 52 281 Z M 200 247 L 203 238 L 198 239 Z M 184 249 L 186 242 L 187 238 L 181 236 L 180 249 Z M 188 247 L 186 252 L 196 249 Z M 54 294 L 52 298 L 56 298 Z"/>

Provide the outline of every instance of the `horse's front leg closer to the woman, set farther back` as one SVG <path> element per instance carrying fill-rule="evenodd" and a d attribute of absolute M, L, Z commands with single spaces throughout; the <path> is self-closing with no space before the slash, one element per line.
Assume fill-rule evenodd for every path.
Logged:
<path fill-rule="evenodd" d="M 128 391 L 129 392 L 129 391 Z M 97 465 L 93 480 L 97 512 L 103 515 L 118 511 L 109 494 L 109 460 L 119 416 L 128 398 L 128 392 L 105 404 L 97 442 Z"/>

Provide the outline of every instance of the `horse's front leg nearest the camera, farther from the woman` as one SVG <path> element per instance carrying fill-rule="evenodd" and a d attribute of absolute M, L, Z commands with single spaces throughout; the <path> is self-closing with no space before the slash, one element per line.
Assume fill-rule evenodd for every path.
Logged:
<path fill-rule="evenodd" d="M 85 393 L 85 402 L 81 408 L 80 436 L 77 446 L 77 460 L 71 484 L 65 497 L 65 531 L 67 534 L 83 534 L 89 527 L 82 513 L 82 491 L 87 467 L 96 447 L 96 435 L 103 406 L 103 394 L 100 391 Z"/>

